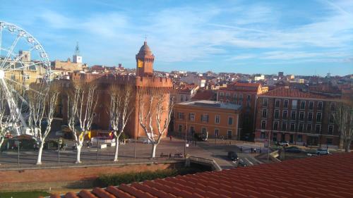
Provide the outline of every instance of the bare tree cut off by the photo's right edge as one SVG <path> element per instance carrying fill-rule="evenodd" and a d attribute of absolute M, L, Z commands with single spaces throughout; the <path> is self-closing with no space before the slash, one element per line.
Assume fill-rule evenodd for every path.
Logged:
<path fill-rule="evenodd" d="M 333 112 L 333 118 L 338 126 L 340 139 L 343 143 L 342 146 L 345 148 L 346 152 L 350 151 L 350 145 L 353 141 L 353 118 L 351 111 L 353 111 L 352 101 L 342 101 L 338 103 L 337 108 L 335 108 L 335 111 Z"/>

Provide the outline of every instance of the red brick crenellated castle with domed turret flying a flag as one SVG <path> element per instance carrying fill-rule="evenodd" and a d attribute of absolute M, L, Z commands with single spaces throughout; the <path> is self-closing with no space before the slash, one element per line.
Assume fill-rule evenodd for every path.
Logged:
<path fill-rule="evenodd" d="M 161 78 L 153 76 L 153 61 L 154 56 L 148 47 L 147 42 L 143 44 L 136 55 L 136 70 L 138 70 L 137 76 L 131 75 L 113 75 L 113 74 L 100 74 L 100 73 L 71 73 L 70 81 L 72 82 L 95 82 L 98 90 L 100 92 L 97 102 L 97 107 L 95 109 L 95 118 L 93 119 L 92 126 L 95 126 L 96 129 L 101 130 L 111 130 L 109 123 L 109 104 L 110 104 L 110 95 L 109 87 L 111 85 L 131 85 L 133 86 L 133 113 L 131 113 L 128 123 L 126 124 L 126 129 L 124 132 L 131 138 L 138 138 L 145 136 L 143 128 L 139 124 L 138 120 L 138 109 L 139 101 L 137 94 L 140 92 L 149 93 L 150 90 L 160 90 L 163 92 L 164 106 L 168 108 L 169 98 L 170 98 L 170 89 L 172 89 L 172 79 L 171 78 Z M 62 80 L 66 82 L 67 80 Z M 66 86 L 66 85 L 65 85 Z M 68 86 L 66 86 L 68 87 Z M 148 103 L 148 94 L 145 94 L 143 99 Z M 59 104 L 62 105 L 62 111 L 64 121 L 66 120 L 67 115 L 67 101 L 63 97 L 64 101 L 61 101 Z M 155 104 L 153 104 L 155 105 Z M 162 120 L 167 117 L 167 112 L 162 113 Z M 152 116 L 152 118 L 155 118 Z M 156 128 L 156 121 L 152 119 L 152 126 Z M 164 133 L 164 136 L 167 132 Z"/>

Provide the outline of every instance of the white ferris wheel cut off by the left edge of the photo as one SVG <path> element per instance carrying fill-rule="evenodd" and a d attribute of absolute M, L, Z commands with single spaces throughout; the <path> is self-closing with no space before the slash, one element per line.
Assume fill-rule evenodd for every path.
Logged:
<path fill-rule="evenodd" d="M 22 28 L 0 20 L 0 91 L 13 120 L 11 132 L 23 134 L 27 128 L 28 92 L 43 96 L 49 90 L 50 62 L 40 42 Z M 42 89 L 34 89 L 40 84 Z"/>

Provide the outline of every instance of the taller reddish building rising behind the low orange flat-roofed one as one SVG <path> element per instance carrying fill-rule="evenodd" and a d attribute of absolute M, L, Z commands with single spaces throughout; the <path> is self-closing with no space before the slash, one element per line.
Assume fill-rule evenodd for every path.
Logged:
<path fill-rule="evenodd" d="M 217 101 L 241 106 L 239 128 L 241 140 L 253 140 L 258 94 L 266 92 L 260 83 L 241 83 L 227 85 L 217 91 Z"/>

